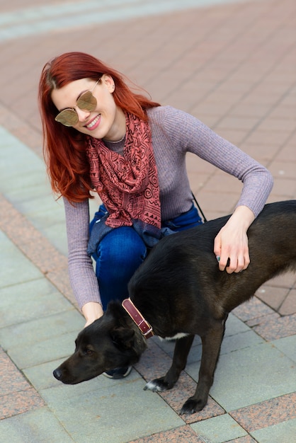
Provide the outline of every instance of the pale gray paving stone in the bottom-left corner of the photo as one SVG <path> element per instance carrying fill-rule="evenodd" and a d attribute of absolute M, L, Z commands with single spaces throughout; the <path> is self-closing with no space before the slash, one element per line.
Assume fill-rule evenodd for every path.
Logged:
<path fill-rule="evenodd" d="M 0 442 L 73 443 L 48 408 L 39 408 L 0 421 Z"/>

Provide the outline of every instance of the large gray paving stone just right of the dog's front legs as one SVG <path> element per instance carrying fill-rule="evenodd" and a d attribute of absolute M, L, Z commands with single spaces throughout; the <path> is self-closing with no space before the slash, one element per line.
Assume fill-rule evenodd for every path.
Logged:
<path fill-rule="evenodd" d="M 194 364 L 186 372 L 198 379 Z M 295 365 L 271 343 L 264 343 L 221 355 L 210 395 L 229 411 L 293 392 L 295 386 Z"/>

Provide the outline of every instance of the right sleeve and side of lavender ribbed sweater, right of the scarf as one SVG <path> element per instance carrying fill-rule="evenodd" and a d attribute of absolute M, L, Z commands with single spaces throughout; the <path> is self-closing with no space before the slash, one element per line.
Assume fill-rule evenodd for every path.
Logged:
<path fill-rule="evenodd" d="M 249 207 L 257 217 L 273 187 L 271 173 L 264 166 L 181 110 L 170 106 L 153 108 L 149 118 L 152 120 L 152 143 L 159 168 L 164 219 L 167 215 L 174 215 L 172 209 L 181 207 L 182 202 L 184 205 L 190 195 L 186 152 L 196 154 L 241 180 L 244 186 L 237 206 Z"/>

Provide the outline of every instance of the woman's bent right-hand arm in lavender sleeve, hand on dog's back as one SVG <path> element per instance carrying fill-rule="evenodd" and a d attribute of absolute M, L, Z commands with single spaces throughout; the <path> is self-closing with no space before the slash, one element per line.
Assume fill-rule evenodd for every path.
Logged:
<path fill-rule="evenodd" d="M 250 263 L 246 232 L 266 204 L 273 187 L 271 173 L 237 146 L 182 111 L 166 109 L 166 133 L 183 151 L 193 152 L 241 180 L 243 188 L 239 201 L 215 238 L 214 253 L 219 257 L 220 270 L 232 273 L 246 269 Z"/>

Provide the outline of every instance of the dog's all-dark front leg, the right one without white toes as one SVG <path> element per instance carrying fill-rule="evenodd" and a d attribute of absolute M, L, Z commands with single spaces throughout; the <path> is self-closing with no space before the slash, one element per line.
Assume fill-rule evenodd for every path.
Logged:
<path fill-rule="evenodd" d="M 188 398 L 181 409 L 181 414 L 193 414 L 202 410 L 207 404 L 210 387 L 214 381 L 214 373 L 223 340 L 225 321 L 217 322 L 202 339 L 203 355 L 200 362 L 198 386 L 194 396 Z"/>

